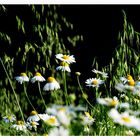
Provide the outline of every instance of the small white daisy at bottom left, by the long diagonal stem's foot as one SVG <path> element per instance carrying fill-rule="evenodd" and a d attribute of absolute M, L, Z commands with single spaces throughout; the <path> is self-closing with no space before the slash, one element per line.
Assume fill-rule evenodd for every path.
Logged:
<path fill-rule="evenodd" d="M 11 128 L 15 128 L 16 130 L 20 130 L 20 131 L 27 130 L 26 124 L 24 124 L 23 121 L 17 121 L 17 123 L 12 125 Z"/>

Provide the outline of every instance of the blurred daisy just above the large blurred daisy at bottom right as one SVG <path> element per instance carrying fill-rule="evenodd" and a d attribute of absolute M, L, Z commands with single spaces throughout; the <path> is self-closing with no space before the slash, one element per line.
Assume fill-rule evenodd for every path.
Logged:
<path fill-rule="evenodd" d="M 106 106 L 112 106 L 112 107 L 117 106 L 119 103 L 118 98 L 115 96 L 113 98 L 98 98 L 97 102 L 99 104 L 106 105 Z"/>

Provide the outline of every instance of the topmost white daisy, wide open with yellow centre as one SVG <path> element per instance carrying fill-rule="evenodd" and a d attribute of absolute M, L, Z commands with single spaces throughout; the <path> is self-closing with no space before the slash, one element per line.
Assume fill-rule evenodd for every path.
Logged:
<path fill-rule="evenodd" d="M 73 55 L 63 55 L 63 54 L 56 54 L 55 57 L 63 62 L 68 64 L 75 63 L 75 58 Z"/>

